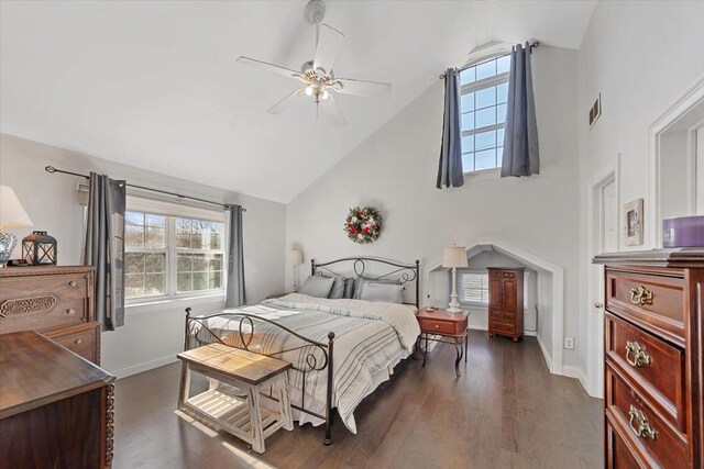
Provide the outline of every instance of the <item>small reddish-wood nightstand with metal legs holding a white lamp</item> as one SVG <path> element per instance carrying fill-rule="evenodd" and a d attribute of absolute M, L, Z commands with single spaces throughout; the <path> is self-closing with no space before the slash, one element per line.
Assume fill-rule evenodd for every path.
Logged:
<path fill-rule="evenodd" d="M 470 326 L 470 312 L 448 313 L 446 310 L 420 310 L 416 313 L 416 319 L 420 325 L 420 335 L 416 348 L 422 354 L 422 366 L 426 366 L 428 358 L 428 343 L 439 342 L 442 344 L 452 344 L 457 351 L 454 360 L 454 371 L 460 377 L 460 361 L 464 357 L 466 362 L 468 333 Z M 432 336 L 432 337 L 431 337 Z M 425 340 L 425 347 L 421 342 Z M 464 343 L 464 348 L 462 348 Z"/>

